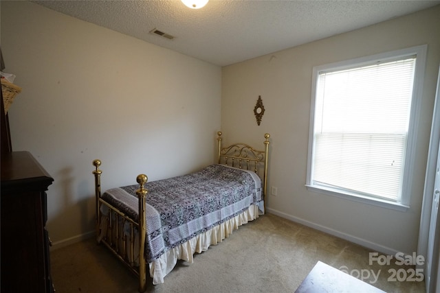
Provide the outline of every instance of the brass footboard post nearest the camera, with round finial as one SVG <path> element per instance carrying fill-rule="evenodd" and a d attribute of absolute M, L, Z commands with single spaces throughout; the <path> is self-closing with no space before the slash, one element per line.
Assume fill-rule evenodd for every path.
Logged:
<path fill-rule="evenodd" d="M 144 257 L 145 237 L 146 237 L 146 212 L 145 199 L 148 190 L 144 188 L 144 184 L 148 180 L 145 174 L 137 176 L 136 181 L 139 183 L 139 189 L 136 190 L 136 195 L 139 198 L 139 292 L 146 291 L 146 261 Z"/>

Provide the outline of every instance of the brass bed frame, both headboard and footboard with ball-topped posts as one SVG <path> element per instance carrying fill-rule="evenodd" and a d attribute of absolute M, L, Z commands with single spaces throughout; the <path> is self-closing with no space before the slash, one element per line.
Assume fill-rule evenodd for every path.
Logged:
<path fill-rule="evenodd" d="M 245 143 L 234 143 L 223 147 L 221 144 L 221 132 L 217 132 L 218 141 L 218 154 L 217 163 L 223 165 L 230 165 L 231 167 L 238 167 L 240 169 L 252 170 L 261 178 L 263 185 L 262 198 L 265 199 L 267 191 L 267 157 L 269 152 L 269 138 L 270 134 L 264 134 L 265 141 L 264 150 L 256 150 L 250 145 Z M 146 260 L 144 258 L 145 238 L 146 238 L 146 194 L 147 189 L 144 187 L 148 180 L 145 174 L 140 174 L 136 177 L 136 181 L 139 184 L 139 189 L 136 191 L 136 195 L 139 198 L 139 212 L 140 215 L 138 222 L 132 220 L 128 215 L 125 215 L 119 209 L 113 207 L 111 204 L 101 198 L 101 183 L 100 176 L 102 171 L 99 169 L 101 161 L 96 159 L 93 161 L 93 165 L 96 169 L 92 172 L 95 177 L 95 196 L 96 196 L 96 233 L 98 243 L 103 243 L 107 246 L 113 254 L 120 259 L 129 269 L 139 277 L 139 292 L 146 291 Z M 110 236 L 100 239 L 101 229 L 101 212 L 100 207 L 104 204 L 109 208 L 107 214 L 107 224 Z M 141 216 L 142 215 L 142 216 Z M 129 224 L 129 235 L 124 235 L 124 231 L 119 228 L 118 222 L 122 221 L 122 227 L 124 224 Z M 114 225 L 114 226 L 113 226 Z M 135 251 L 135 229 L 139 231 L 139 263 L 135 263 L 134 251 Z M 122 244 L 122 245 L 120 245 Z M 122 249 L 120 249 L 122 246 Z M 136 249 L 137 250 L 137 249 Z"/>

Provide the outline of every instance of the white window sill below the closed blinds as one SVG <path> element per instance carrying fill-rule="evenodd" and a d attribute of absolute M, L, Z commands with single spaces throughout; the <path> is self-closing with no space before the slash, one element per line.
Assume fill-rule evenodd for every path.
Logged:
<path fill-rule="evenodd" d="M 409 206 L 401 204 L 399 202 L 391 202 L 388 200 L 381 200 L 379 198 L 367 198 L 366 196 L 358 196 L 354 194 L 344 194 L 340 191 L 334 191 L 325 187 L 317 187 L 312 185 L 306 185 L 306 187 L 309 191 L 315 191 L 320 194 L 327 194 L 329 196 L 336 196 L 338 198 L 353 200 L 355 202 L 362 202 L 364 204 L 371 204 L 376 207 L 384 207 L 386 209 L 393 209 L 395 211 L 407 211 L 409 209 Z"/>

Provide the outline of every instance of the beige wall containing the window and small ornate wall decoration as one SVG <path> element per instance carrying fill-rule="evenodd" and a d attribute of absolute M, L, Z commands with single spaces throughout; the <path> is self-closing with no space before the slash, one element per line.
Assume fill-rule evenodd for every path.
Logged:
<path fill-rule="evenodd" d="M 384 253 L 417 251 L 432 108 L 440 64 L 440 6 L 223 67 L 221 128 L 231 140 L 263 142 L 271 134 L 268 211 Z M 305 187 L 312 68 L 331 62 L 428 44 L 415 177 L 410 209 L 395 211 L 316 194 Z M 261 95 L 265 114 L 256 125 Z M 237 126 L 240 127 L 237 127 Z M 257 139 L 256 139 L 257 138 Z"/>

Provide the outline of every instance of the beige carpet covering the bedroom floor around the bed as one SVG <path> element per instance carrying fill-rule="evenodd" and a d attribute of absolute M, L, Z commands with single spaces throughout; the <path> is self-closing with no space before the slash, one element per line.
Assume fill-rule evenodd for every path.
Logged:
<path fill-rule="evenodd" d="M 424 282 L 388 281 L 390 269 L 370 266 L 370 250 L 320 231 L 267 214 L 241 226 L 194 263 L 180 262 L 149 292 L 294 292 L 317 261 L 344 270 L 374 274 L 364 279 L 386 292 L 425 292 Z M 88 239 L 51 252 L 52 279 L 57 293 L 135 293 L 137 277 L 104 246 Z M 24 281 L 24 280 L 23 280 Z M 347 288 L 347 292 L 356 292 Z"/>

